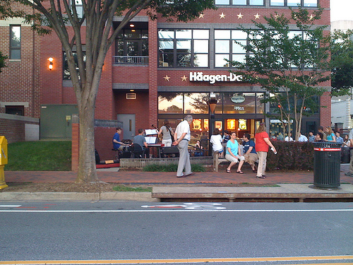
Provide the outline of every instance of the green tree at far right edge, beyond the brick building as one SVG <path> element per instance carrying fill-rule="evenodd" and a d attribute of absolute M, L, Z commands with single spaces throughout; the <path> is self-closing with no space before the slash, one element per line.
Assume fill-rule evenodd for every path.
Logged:
<path fill-rule="evenodd" d="M 331 95 L 348 95 L 353 87 L 353 30 L 330 35 Z"/>

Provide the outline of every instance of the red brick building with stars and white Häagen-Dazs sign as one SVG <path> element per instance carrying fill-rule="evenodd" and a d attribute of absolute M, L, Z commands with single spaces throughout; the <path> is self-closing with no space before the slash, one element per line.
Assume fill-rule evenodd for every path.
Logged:
<path fill-rule="evenodd" d="M 158 18 L 150 20 L 140 13 L 116 38 L 109 49 L 100 81 L 96 102 L 96 119 L 118 120 L 124 124 L 124 139 L 131 139 L 139 128 L 160 127 L 168 119 L 173 128 L 186 114 L 193 114 L 193 141 L 210 128 L 254 134 L 256 125 L 268 123 L 270 131 L 278 131 L 278 121 L 265 117 L 270 105 L 260 102 L 263 90 L 243 83 L 229 74 L 224 58 L 239 59 L 246 54 L 232 40 L 246 36 L 239 25 L 251 27 L 251 20 L 264 23 L 271 13 L 290 14 L 289 6 L 297 4 L 316 10 L 324 8 L 318 25 L 330 30 L 329 0 L 215 0 L 217 10 L 205 11 L 189 23 L 170 23 Z M 113 27 L 121 18 L 114 19 Z M 295 30 L 295 25 L 292 25 Z M 19 38 L 19 40 L 18 40 Z M 70 124 L 76 98 L 61 42 L 54 35 L 38 36 L 20 20 L 0 20 L 0 50 L 9 54 L 8 67 L 0 74 L 0 113 L 22 114 L 44 119 L 58 115 L 62 108 L 62 126 Z M 52 70 L 48 59 L 52 58 Z M 201 78 L 202 76 L 202 78 Z M 330 90 L 330 81 L 322 84 Z M 208 100 L 210 93 L 218 99 L 215 120 L 210 124 Z M 330 95 L 320 98 L 319 113 L 304 118 L 302 131 L 316 131 L 320 125 L 330 125 Z M 51 107 L 54 107 L 49 114 Z M 73 112 L 73 113 L 70 113 Z M 77 112 L 76 112 L 77 113 Z M 58 126 L 55 119 L 55 126 Z M 41 120 L 42 122 L 42 120 Z M 45 124 L 45 122 L 43 121 Z M 47 122 L 51 124 L 51 122 Z M 50 125 L 48 125 L 50 126 Z M 70 138 L 55 135 L 41 127 L 41 137 Z M 49 130 L 50 131 L 50 130 Z M 63 129 L 62 131 L 67 131 Z M 104 131 L 104 130 L 103 130 Z M 105 153 L 111 145 L 113 128 L 96 137 L 96 146 Z M 96 134 L 97 135 L 97 134 Z M 110 154 L 107 153 L 106 156 Z M 103 155 L 104 158 L 104 155 Z"/>

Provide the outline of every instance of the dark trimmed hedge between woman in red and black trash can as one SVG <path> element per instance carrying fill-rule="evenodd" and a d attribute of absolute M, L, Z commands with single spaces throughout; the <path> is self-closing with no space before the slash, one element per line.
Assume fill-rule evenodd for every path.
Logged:
<path fill-rule="evenodd" d="M 313 143 L 274 141 L 273 151 L 268 151 L 268 170 L 313 170 Z"/>

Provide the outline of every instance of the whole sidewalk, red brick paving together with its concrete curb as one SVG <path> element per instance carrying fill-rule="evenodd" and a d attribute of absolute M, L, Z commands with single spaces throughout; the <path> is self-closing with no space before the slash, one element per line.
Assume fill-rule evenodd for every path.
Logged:
<path fill-rule="evenodd" d="M 163 185 L 153 187 L 152 193 L 0 192 L 0 201 L 353 201 L 353 177 L 345 175 L 348 168 L 349 164 L 341 165 L 340 189 L 313 189 L 313 172 L 267 172 L 265 179 L 256 179 L 256 174 L 248 168 L 244 174 L 237 174 L 237 170 L 229 174 L 220 169 L 220 172 L 196 172 L 181 178 L 175 172 L 98 170 L 98 178 L 103 182 Z M 68 183 L 75 179 L 75 172 L 5 172 L 8 183 Z M 277 187 L 222 187 L 222 184 L 241 183 L 277 184 Z"/>

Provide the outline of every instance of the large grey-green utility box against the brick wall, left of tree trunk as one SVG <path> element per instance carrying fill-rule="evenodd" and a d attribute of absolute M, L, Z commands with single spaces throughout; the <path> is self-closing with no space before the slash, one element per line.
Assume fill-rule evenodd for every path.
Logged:
<path fill-rule="evenodd" d="M 77 105 L 42 105 L 40 139 L 71 140 L 72 114 L 77 113 Z"/>

